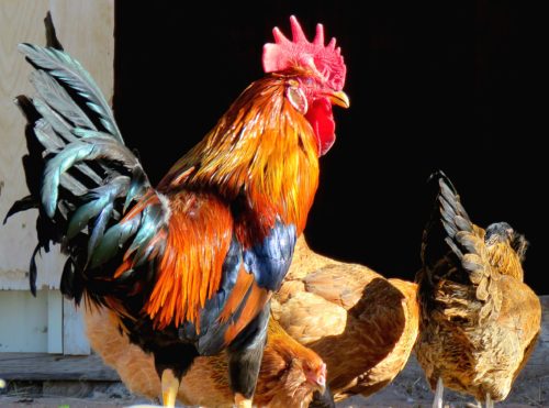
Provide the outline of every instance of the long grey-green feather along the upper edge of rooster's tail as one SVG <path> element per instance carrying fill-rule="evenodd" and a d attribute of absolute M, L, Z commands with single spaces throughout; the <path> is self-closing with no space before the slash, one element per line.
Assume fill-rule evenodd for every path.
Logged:
<path fill-rule="evenodd" d="M 61 51 L 32 44 L 20 44 L 18 49 L 34 65 L 47 69 L 49 75 L 83 97 L 88 108 L 99 114 L 101 124 L 105 130 L 120 143 L 124 144 L 109 103 L 89 73 L 83 69 L 78 60 Z"/>

